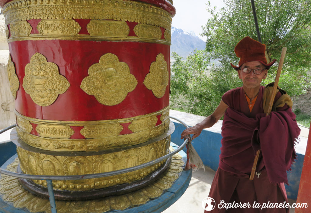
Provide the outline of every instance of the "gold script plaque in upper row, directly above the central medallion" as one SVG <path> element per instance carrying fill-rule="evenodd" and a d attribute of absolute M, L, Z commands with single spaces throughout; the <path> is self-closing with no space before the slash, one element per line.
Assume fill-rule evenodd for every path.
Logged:
<path fill-rule="evenodd" d="M 125 21 L 90 20 L 86 26 L 91 36 L 126 38 L 130 28 Z"/>

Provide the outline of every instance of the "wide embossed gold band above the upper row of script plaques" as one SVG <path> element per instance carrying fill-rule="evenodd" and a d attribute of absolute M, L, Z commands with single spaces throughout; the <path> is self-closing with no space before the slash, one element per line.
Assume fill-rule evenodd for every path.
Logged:
<path fill-rule="evenodd" d="M 136 1 L 13 0 L 3 7 L 6 23 L 32 19 L 122 20 L 171 28 L 169 12 Z"/>

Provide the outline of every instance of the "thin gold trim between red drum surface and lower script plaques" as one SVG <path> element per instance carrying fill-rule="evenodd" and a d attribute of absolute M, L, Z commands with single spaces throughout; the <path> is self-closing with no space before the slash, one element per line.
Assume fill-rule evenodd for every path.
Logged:
<path fill-rule="evenodd" d="M 163 108 L 159 111 L 156 111 L 156 112 L 152 112 L 152 113 L 149 113 L 146 115 L 135 116 L 135 117 L 131 117 L 131 118 L 121 118 L 121 119 L 113 119 L 113 120 L 93 120 L 93 121 L 64 121 L 64 120 L 43 120 L 43 119 L 31 118 L 31 117 L 23 116 L 19 112 L 15 111 L 15 114 L 17 117 L 21 117 L 25 120 L 28 120 L 31 123 L 50 124 L 50 125 L 52 125 L 52 124 L 54 124 L 54 125 L 63 124 L 63 125 L 69 125 L 69 126 L 102 125 L 102 124 L 112 124 L 115 122 L 118 122 L 120 124 L 124 124 L 124 123 L 130 123 L 130 122 L 132 122 L 132 120 L 135 120 L 135 119 L 158 116 L 158 115 L 162 115 L 164 113 L 165 114 L 169 113 L 169 106 L 166 106 L 165 108 Z M 162 120 L 162 123 L 164 121 L 166 121 L 167 119 L 168 118 Z"/>

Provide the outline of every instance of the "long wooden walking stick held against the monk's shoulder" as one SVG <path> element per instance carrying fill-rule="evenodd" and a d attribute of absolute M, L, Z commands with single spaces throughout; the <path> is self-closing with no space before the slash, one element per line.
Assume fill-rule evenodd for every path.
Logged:
<path fill-rule="evenodd" d="M 268 106 L 268 111 L 266 113 L 266 116 L 269 116 L 272 110 L 272 105 L 274 102 L 274 98 L 276 96 L 276 89 L 277 89 L 277 85 L 279 84 L 279 80 L 280 80 L 280 75 L 281 75 L 281 70 L 283 67 L 283 62 L 284 62 L 284 58 L 285 58 L 285 54 L 286 54 L 286 47 L 283 47 L 282 49 L 282 53 L 281 53 L 281 58 L 280 58 L 280 62 L 279 62 L 279 66 L 277 68 L 277 72 L 276 72 L 276 76 L 275 76 L 275 80 L 274 80 L 274 84 L 273 84 L 273 89 L 272 89 L 272 94 L 271 94 L 271 98 L 269 101 L 269 106 Z M 257 150 L 256 152 L 256 156 L 254 159 L 254 163 L 253 163 L 253 167 L 252 167 L 252 172 L 251 175 L 249 176 L 250 180 L 254 179 L 254 175 L 255 175 L 255 171 L 256 171 L 256 166 L 257 166 L 257 162 L 259 159 L 259 155 L 260 155 L 260 149 Z"/>

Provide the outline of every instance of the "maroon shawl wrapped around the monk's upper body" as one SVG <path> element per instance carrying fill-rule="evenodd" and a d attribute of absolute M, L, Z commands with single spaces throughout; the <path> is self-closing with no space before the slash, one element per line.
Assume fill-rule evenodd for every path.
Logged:
<path fill-rule="evenodd" d="M 243 88 L 224 94 L 222 99 L 229 108 L 223 120 L 219 167 L 240 178 L 248 178 L 255 153 L 260 148 L 262 158 L 257 171 L 265 167 L 270 182 L 288 184 L 286 170 L 295 159 L 294 145 L 300 129 L 295 114 L 287 105 L 266 117 L 262 108 L 263 90 L 261 87 L 251 113 Z M 278 94 L 276 99 L 280 96 Z"/>

